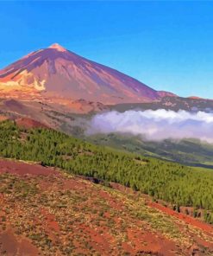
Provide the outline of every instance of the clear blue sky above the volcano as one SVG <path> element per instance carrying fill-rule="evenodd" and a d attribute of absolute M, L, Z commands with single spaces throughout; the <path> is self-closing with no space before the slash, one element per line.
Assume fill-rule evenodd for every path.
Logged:
<path fill-rule="evenodd" d="M 1 2 L 0 68 L 59 42 L 180 96 L 213 99 L 213 2 Z"/>

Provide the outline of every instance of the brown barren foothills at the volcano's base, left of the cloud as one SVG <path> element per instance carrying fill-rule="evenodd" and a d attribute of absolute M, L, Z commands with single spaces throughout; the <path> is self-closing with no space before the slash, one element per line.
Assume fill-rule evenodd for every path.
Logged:
<path fill-rule="evenodd" d="M 60 129 L 65 124 L 73 125 L 74 115 L 83 113 L 101 112 L 110 109 L 99 102 L 78 99 L 70 101 L 67 105 L 63 102 L 57 104 L 43 103 L 41 101 L 28 101 L 19 99 L 0 99 L 0 121 L 9 119 L 30 119 L 53 129 Z M 35 125 L 36 126 L 36 125 Z"/>

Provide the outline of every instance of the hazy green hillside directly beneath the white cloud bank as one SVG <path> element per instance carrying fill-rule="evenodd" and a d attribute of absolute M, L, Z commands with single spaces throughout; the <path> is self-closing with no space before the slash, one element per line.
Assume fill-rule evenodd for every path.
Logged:
<path fill-rule="evenodd" d="M 110 146 L 143 156 L 213 169 L 213 144 L 198 139 L 147 141 L 140 136 L 119 133 L 96 134 L 86 139 L 94 144 Z"/>

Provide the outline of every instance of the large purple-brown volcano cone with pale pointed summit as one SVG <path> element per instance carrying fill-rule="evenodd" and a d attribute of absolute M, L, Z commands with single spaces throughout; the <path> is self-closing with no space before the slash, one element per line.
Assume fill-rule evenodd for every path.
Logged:
<path fill-rule="evenodd" d="M 0 70 L 0 97 L 85 99 L 103 104 L 152 102 L 158 92 L 115 69 L 89 61 L 59 44 L 37 50 Z M 64 102 L 66 104 L 66 101 Z"/>

